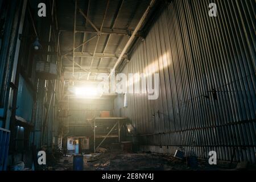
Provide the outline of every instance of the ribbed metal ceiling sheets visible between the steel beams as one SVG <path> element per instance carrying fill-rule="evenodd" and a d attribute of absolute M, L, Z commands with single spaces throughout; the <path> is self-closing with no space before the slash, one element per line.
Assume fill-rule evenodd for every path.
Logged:
<path fill-rule="evenodd" d="M 106 11 L 106 18 L 104 20 L 104 28 L 114 28 L 117 30 L 127 30 L 127 34 L 130 34 L 129 31 L 134 30 L 137 26 L 139 19 L 143 15 L 150 1 L 148 0 L 112 0 L 109 1 L 109 7 Z M 104 18 L 104 13 L 106 10 L 107 0 L 78 0 L 77 7 L 81 9 L 90 21 L 97 27 L 101 27 L 102 20 Z M 56 1 L 57 7 L 57 16 L 59 27 L 63 30 L 73 30 L 74 22 L 74 2 L 72 1 Z M 89 9 L 88 9 L 89 4 Z M 119 7 L 119 4 L 122 6 Z M 88 11 L 88 12 L 87 12 Z M 117 16 L 115 16 L 117 15 Z M 86 19 L 80 13 L 77 13 L 76 17 L 76 26 L 77 27 L 90 27 L 90 23 L 86 23 Z M 79 46 L 88 40 L 92 36 L 96 35 L 95 33 L 86 33 L 84 39 L 83 32 L 76 33 L 75 45 Z M 100 39 L 97 44 L 96 52 L 105 52 L 105 53 L 115 53 L 116 55 L 120 54 L 122 49 L 125 47 L 126 42 L 129 40 L 129 36 L 125 35 L 104 35 L 100 36 Z M 61 43 L 61 52 L 65 53 L 73 49 L 73 45 L 70 44 L 73 42 L 73 31 L 61 32 L 60 43 Z M 77 48 L 76 51 L 84 52 L 94 52 L 96 47 L 97 39 L 93 39 L 90 42 L 86 43 L 80 48 Z M 106 48 L 105 48 L 106 47 Z M 104 51 L 105 49 L 105 51 Z M 92 58 L 89 57 L 76 57 L 75 60 L 77 63 L 81 60 L 82 67 L 90 67 Z M 110 69 L 114 67 L 116 59 L 96 58 L 93 61 L 93 68 L 103 68 Z M 67 60 L 65 57 L 63 59 L 64 65 L 72 65 L 71 61 Z"/>

